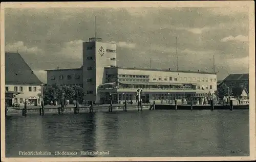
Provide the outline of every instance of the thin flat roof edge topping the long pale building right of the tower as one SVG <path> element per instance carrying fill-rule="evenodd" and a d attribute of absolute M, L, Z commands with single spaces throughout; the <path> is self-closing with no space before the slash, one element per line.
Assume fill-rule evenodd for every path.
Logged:
<path fill-rule="evenodd" d="M 201 73 L 201 74 L 217 74 L 217 72 L 202 72 L 202 71 L 184 71 L 184 70 L 167 70 L 167 69 L 147 69 L 147 68 L 127 68 L 127 67 L 105 67 L 106 69 L 127 69 L 127 70 L 147 70 L 147 71 L 166 71 L 166 72 L 186 72 L 186 73 Z"/>

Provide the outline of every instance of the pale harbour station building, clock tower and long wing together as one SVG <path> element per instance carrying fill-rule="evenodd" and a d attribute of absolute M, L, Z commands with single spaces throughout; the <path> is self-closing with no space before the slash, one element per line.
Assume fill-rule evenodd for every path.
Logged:
<path fill-rule="evenodd" d="M 82 55 L 85 101 L 106 102 L 111 94 L 113 102 L 136 102 L 138 89 L 142 89 L 141 98 L 144 102 L 160 102 L 184 96 L 203 98 L 217 90 L 217 75 L 214 72 L 117 67 L 116 44 L 102 42 L 100 38 L 83 42 Z M 60 75 L 60 71 L 55 72 Z M 50 77 L 52 75 L 47 76 L 48 79 Z M 52 83 L 51 80 L 49 82 Z M 70 84 L 71 80 L 66 82 Z"/>

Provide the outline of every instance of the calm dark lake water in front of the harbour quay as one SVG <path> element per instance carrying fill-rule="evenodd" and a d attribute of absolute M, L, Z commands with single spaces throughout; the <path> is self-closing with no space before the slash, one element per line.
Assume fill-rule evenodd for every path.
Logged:
<path fill-rule="evenodd" d="M 47 151 L 52 155 L 19 155 Z M 77 155 L 54 155 L 77 151 Z M 110 151 L 81 155 L 80 151 Z M 6 157 L 249 156 L 249 110 L 155 110 L 6 118 Z"/>

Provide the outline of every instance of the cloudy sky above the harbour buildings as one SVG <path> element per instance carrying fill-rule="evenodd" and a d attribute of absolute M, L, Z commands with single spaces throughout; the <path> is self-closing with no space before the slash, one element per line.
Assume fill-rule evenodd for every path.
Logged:
<path fill-rule="evenodd" d="M 248 73 L 247 8 L 7 8 L 5 50 L 16 51 L 45 82 L 45 69 L 78 68 L 82 42 L 117 43 L 117 65 Z"/>

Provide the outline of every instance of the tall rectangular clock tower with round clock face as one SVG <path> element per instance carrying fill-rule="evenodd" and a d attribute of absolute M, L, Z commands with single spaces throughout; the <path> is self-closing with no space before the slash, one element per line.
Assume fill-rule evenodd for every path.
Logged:
<path fill-rule="evenodd" d="M 100 101 L 98 86 L 105 82 L 104 68 L 116 66 L 116 44 L 90 38 L 83 42 L 84 100 Z"/>

